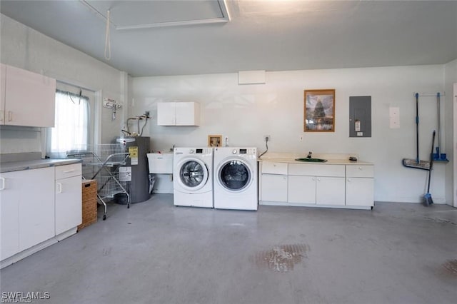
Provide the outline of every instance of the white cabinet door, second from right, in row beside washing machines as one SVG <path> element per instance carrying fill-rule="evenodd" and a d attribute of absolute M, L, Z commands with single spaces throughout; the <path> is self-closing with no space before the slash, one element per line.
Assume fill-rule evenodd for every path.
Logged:
<path fill-rule="evenodd" d="M 344 206 L 345 198 L 345 178 L 317 177 L 316 204 Z"/>

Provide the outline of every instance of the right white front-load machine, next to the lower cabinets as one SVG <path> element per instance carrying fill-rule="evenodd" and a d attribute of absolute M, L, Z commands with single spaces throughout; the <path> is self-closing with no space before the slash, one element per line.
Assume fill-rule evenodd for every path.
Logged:
<path fill-rule="evenodd" d="M 214 208 L 257 210 L 257 148 L 214 148 Z"/>

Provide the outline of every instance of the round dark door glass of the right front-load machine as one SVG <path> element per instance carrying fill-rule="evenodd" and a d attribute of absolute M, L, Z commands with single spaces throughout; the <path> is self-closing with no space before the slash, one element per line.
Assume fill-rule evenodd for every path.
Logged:
<path fill-rule="evenodd" d="M 230 160 L 221 166 L 219 181 L 228 190 L 241 191 L 249 185 L 251 171 L 243 161 Z"/>

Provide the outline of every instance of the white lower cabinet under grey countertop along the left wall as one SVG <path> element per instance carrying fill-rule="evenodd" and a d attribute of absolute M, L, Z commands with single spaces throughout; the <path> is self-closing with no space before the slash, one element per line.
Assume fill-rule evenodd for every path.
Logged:
<path fill-rule="evenodd" d="M 81 209 L 81 163 L 1 173 L 1 267 L 51 245 L 71 228 L 76 233 Z"/>

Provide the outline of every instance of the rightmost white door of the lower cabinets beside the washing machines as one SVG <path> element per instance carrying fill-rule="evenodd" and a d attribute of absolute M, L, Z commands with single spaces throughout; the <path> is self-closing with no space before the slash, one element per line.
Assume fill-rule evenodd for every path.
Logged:
<path fill-rule="evenodd" d="M 373 206 L 373 178 L 346 179 L 346 206 Z"/>

